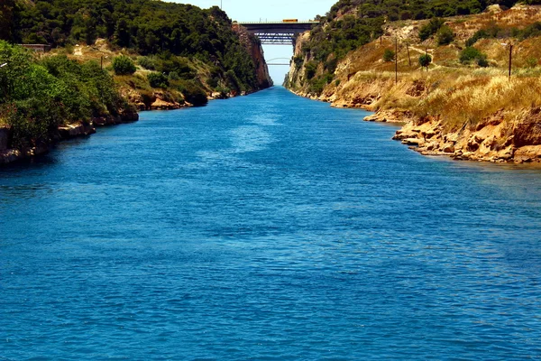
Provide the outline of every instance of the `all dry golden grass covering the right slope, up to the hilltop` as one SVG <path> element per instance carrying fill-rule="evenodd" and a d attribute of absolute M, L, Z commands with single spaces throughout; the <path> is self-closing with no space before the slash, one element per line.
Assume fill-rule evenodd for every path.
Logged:
<path fill-rule="evenodd" d="M 460 51 L 463 42 L 479 29 L 495 24 L 503 29 L 522 28 L 537 21 L 541 21 L 539 6 L 454 18 L 449 24 L 457 34 L 457 41 L 432 48 L 432 42 L 418 43 L 416 39 L 415 29 L 424 22 L 400 23 L 405 30 L 399 29 L 399 23 L 390 24 L 383 42 L 371 42 L 353 51 L 336 72 L 336 77 L 341 80 L 336 98 L 353 105 L 359 101 L 366 105 L 366 101 L 372 99 L 368 107 L 373 110 L 397 109 L 420 117 L 438 116 L 446 131 L 458 130 L 464 125 L 474 127 L 501 109 L 505 109 L 504 116 L 510 119 L 523 109 L 541 106 L 541 38 L 523 42 L 516 39 L 480 40 L 475 47 L 487 54 L 489 68 L 479 68 L 474 63 L 461 64 Z M 394 62 L 382 61 L 385 49 L 395 50 L 393 36 L 398 36 L 401 42 L 398 84 L 395 84 Z M 510 80 L 509 48 L 502 45 L 509 41 L 515 45 Z M 410 44 L 411 66 L 406 42 Z M 434 60 L 429 72 L 420 69 L 417 63 L 426 47 Z M 335 86 L 332 87 L 335 90 Z"/>

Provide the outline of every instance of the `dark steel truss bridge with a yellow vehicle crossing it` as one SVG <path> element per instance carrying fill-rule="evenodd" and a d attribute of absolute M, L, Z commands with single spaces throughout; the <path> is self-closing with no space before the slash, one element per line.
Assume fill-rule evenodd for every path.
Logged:
<path fill-rule="evenodd" d="M 301 32 L 312 29 L 318 22 L 286 19 L 281 22 L 243 23 L 239 22 L 248 32 L 257 36 L 262 44 L 295 45 L 295 40 Z"/>

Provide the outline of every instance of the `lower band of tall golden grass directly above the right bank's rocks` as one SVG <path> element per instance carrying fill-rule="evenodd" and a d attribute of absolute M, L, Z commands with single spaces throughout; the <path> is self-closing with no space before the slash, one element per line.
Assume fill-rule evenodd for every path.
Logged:
<path fill-rule="evenodd" d="M 455 71 L 456 70 L 456 71 Z M 530 72 L 533 70 L 529 70 Z M 434 69 L 401 73 L 395 84 L 393 72 L 361 71 L 338 90 L 337 96 L 377 98 L 374 110 L 410 111 L 418 117 L 439 116 L 446 131 L 464 125 L 475 127 L 500 109 L 510 118 L 531 106 L 541 106 L 541 69 L 535 76 L 524 73 L 510 80 L 503 69 Z M 418 88 L 414 94 L 412 88 Z"/>

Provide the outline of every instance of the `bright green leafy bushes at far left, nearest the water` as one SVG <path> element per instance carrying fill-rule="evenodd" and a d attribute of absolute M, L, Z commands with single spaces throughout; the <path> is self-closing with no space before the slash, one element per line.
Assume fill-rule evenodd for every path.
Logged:
<path fill-rule="evenodd" d="M 13 147 L 49 143 L 59 125 L 92 116 L 133 112 L 113 78 L 96 61 L 58 55 L 38 60 L 31 51 L 0 41 L 0 125 L 12 129 Z"/>

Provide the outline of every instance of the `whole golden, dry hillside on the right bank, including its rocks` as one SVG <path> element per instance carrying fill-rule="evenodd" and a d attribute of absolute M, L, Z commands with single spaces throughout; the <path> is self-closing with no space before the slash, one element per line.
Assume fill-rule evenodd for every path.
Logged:
<path fill-rule="evenodd" d="M 386 19 L 366 43 L 322 59 L 317 50 L 331 49 L 333 40 L 317 40 L 318 33 L 344 29 L 345 19 L 359 16 L 359 8 L 348 14 L 345 8 L 335 8 L 335 17 L 298 40 L 286 87 L 334 106 L 375 111 L 367 120 L 407 123 L 396 139 L 421 153 L 541 161 L 539 6 L 488 5 L 480 14 Z M 428 68 L 420 58 L 428 59 Z"/>

